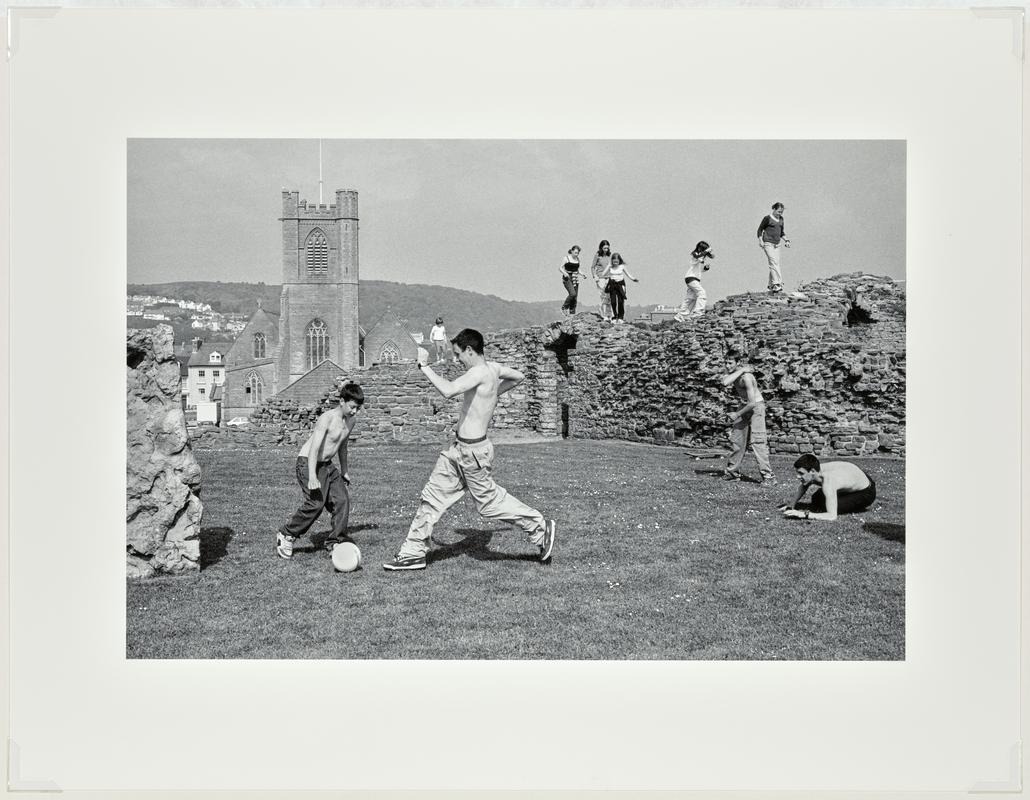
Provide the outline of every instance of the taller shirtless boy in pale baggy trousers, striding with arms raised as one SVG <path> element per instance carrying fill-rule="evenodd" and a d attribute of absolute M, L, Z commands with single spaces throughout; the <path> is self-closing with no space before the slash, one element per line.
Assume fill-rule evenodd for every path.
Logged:
<path fill-rule="evenodd" d="M 459 378 L 448 381 L 422 363 L 418 369 L 443 396 L 465 395 L 456 440 L 437 459 L 422 489 L 408 536 L 397 557 L 383 564 L 383 568 L 424 569 L 433 526 L 466 491 L 484 517 L 522 528 L 529 543 L 537 547 L 540 560 L 547 563 L 554 549 L 554 520 L 545 522 L 539 511 L 515 499 L 493 482 L 493 445 L 486 438 L 497 396 L 518 386 L 525 376 L 496 361 L 487 361 L 483 356 L 483 336 L 478 331 L 467 327 L 451 340 L 451 349 L 467 371 Z"/>

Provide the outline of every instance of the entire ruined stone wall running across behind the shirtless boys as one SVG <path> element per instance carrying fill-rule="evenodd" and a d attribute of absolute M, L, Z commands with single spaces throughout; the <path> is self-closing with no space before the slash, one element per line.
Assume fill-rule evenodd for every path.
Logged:
<path fill-rule="evenodd" d="M 772 452 L 903 455 L 904 346 L 903 288 L 863 274 L 815 281 L 798 297 L 734 295 L 687 322 L 613 326 L 583 313 L 489 335 L 487 357 L 526 376 L 502 396 L 493 427 L 725 448 L 727 414 L 741 403 L 719 378 L 727 358 L 743 358 L 767 402 Z M 461 372 L 440 369 L 448 378 Z M 356 441 L 440 443 L 453 434 L 458 401 L 441 397 L 414 367 L 353 378 L 367 397 Z M 313 408 L 273 398 L 252 420 L 266 438 L 272 430 L 295 444 L 329 407 L 329 393 Z"/>

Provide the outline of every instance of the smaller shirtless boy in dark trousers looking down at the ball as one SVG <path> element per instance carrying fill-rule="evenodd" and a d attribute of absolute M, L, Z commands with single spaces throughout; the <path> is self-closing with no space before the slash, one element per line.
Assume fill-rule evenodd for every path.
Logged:
<path fill-rule="evenodd" d="M 304 492 L 304 502 L 289 522 L 279 528 L 275 552 L 280 558 L 294 557 L 294 543 L 314 525 L 322 509 L 333 515 L 333 532 L 325 540 L 325 549 L 348 542 L 347 521 L 350 517 L 350 493 L 347 486 L 347 440 L 354 429 L 354 417 L 365 405 L 365 392 L 356 383 L 345 383 L 339 391 L 340 405 L 324 412 L 297 456 L 297 482 Z M 339 471 L 333 457 L 340 460 Z"/>

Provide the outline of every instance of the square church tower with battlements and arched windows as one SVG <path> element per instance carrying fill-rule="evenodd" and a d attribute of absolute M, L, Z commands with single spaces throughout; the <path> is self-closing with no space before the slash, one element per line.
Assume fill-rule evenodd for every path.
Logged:
<path fill-rule="evenodd" d="M 357 193 L 308 205 L 283 192 L 281 221 L 280 390 L 327 358 L 358 367 Z"/>

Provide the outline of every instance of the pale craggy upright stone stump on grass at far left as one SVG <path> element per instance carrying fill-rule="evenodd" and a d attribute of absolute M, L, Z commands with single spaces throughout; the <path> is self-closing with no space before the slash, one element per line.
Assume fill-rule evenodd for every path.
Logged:
<path fill-rule="evenodd" d="M 172 328 L 130 328 L 126 345 L 127 573 L 199 569 L 201 474 L 186 434 Z"/>

